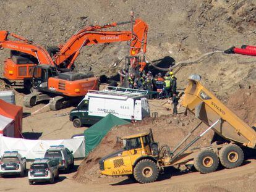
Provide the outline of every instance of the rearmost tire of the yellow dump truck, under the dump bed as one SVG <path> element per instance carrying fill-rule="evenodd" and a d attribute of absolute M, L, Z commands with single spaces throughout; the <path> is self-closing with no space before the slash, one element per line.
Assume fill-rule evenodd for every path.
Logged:
<path fill-rule="evenodd" d="M 236 144 L 228 144 L 220 149 L 220 161 L 227 169 L 239 167 L 244 161 L 244 152 Z"/>

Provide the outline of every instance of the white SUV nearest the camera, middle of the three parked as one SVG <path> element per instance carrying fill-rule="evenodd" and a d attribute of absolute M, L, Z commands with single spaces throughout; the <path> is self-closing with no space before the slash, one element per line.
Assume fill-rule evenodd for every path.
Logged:
<path fill-rule="evenodd" d="M 54 179 L 59 178 L 58 161 L 48 158 L 35 159 L 28 171 L 28 183 L 49 182 L 54 183 Z"/>

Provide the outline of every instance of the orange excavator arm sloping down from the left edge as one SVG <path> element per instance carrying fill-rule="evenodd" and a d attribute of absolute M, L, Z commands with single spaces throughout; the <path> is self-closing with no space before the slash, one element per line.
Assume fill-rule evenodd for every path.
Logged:
<path fill-rule="evenodd" d="M 17 40 L 9 40 L 9 35 Z M 22 36 L 16 35 L 14 33 L 9 33 L 8 31 L 0 31 L 0 49 L 4 48 L 25 52 L 36 57 L 36 59 L 38 59 L 39 64 L 47 64 L 54 66 L 53 60 L 44 48 L 42 48 L 39 45 L 32 44 L 32 41 L 29 41 L 26 38 L 23 38 Z"/>

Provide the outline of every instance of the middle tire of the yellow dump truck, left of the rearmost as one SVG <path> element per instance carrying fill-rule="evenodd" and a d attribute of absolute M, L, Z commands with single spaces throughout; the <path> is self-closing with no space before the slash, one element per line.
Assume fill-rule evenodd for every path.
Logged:
<path fill-rule="evenodd" d="M 215 152 L 210 150 L 201 151 L 194 159 L 194 166 L 198 172 L 211 173 L 214 172 L 219 165 L 219 158 Z"/>

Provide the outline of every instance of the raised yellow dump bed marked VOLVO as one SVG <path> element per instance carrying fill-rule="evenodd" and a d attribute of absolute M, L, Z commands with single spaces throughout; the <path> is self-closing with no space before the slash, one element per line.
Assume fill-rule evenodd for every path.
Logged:
<path fill-rule="evenodd" d="M 203 87 L 195 75 L 189 79 L 182 105 L 208 126 L 221 118 L 222 122 L 213 128 L 215 133 L 226 140 L 255 148 L 255 128 L 247 125 L 207 88 Z"/>

